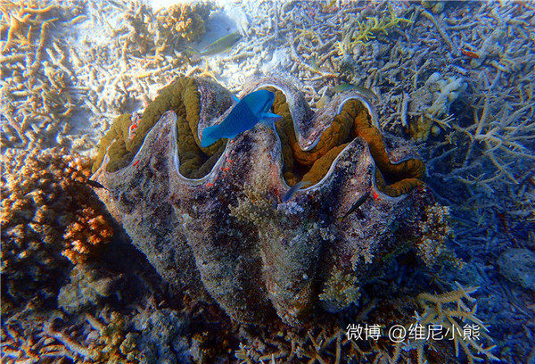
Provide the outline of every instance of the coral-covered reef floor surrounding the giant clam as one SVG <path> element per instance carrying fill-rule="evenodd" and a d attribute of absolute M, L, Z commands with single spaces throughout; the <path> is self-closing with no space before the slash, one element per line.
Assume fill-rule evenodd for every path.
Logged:
<path fill-rule="evenodd" d="M 23 0 L 0 11 L 2 362 L 535 362 L 532 1 Z M 286 79 L 313 111 L 367 95 L 380 128 L 424 160 L 449 211 L 449 229 L 432 233 L 456 264 L 400 247 L 358 304 L 297 327 L 237 323 L 177 293 L 87 178 L 112 121 L 182 77 L 237 96 L 251 79 Z M 468 324 L 463 339 L 374 331 L 451 320 Z"/>

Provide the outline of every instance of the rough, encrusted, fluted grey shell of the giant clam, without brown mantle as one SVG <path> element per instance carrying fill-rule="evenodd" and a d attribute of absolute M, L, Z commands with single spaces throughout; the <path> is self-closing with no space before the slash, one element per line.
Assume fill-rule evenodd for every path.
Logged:
<path fill-rule="evenodd" d="M 358 94 L 334 97 L 314 115 L 299 91 L 283 81 L 264 80 L 245 90 L 260 87 L 284 92 L 302 148 L 317 142 L 350 98 L 365 103 L 376 118 Z M 219 119 L 228 111 L 230 95 L 211 92 L 202 82 L 199 91 L 202 129 L 218 122 L 206 115 Z M 226 109 L 214 112 L 214 105 Z M 402 141 L 389 140 L 397 161 L 412 153 Z M 282 202 L 289 186 L 282 177 L 279 137 L 261 123 L 230 140 L 200 179 L 178 171 L 172 111 L 161 116 L 128 166 L 110 173 L 105 162 L 94 176 L 106 187 L 98 193 L 132 242 L 177 289 L 205 298 L 208 293 L 241 322 L 263 322 L 276 314 L 287 324 L 300 324 L 334 269 L 362 282 L 366 270 L 380 267 L 377 258 L 394 250 L 392 223 L 408 230 L 410 218 L 423 208 L 422 188 L 398 198 L 376 190 L 374 159 L 359 137 L 319 183 L 299 190 L 288 203 Z M 366 192 L 375 198 L 342 219 Z M 327 310 L 343 308 L 328 300 L 322 304 Z"/>

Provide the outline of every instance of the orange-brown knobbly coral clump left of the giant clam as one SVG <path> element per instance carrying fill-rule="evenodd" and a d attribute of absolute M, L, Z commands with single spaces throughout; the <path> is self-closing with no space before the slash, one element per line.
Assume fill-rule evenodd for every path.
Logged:
<path fill-rule="evenodd" d="M 2 154 L 3 301 L 55 296 L 68 263 L 62 251 L 77 262 L 110 239 L 86 185 L 89 168 L 88 159 L 57 148 Z"/>

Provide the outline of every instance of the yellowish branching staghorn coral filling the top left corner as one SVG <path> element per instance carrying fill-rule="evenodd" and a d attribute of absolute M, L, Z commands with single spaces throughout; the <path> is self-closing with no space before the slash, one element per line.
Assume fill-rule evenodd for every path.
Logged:
<path fill-rule="evenodd" d="M 4 147 L 63 144 L 62 136 L 70 128 L 68 118 L 75 103 L 71 71 L 50 54 L 61 49 L 53 44 L 53 27 L 78 10 L 42 5 L 32 0 L 0 4 Z"/>

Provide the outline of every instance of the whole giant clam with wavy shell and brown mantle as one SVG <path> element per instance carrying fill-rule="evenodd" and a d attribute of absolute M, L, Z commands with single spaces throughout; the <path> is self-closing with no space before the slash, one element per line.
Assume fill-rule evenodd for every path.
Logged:
<path fill-rule="evenodd" d="M 260 88 L 276 93 L 276 129 L 260 123 L 202 148 L 202 129 L 225 118 L 232 95 L 206 79 L 177 79 L 141 117 L 115 121 L 93 178 L 177 290 L 215 300 L 240 322 L 277 315 L 298 325 L 318 305 L 357 303 L 369 270 L 414 240 L 432 197 L 422 161 L 383 135 L 363 95 L 336 95 L 314 113 L 280 79 L 260 79 L 243 95 Z M 283 203 L 300 180 L 309 185 Z"/>

